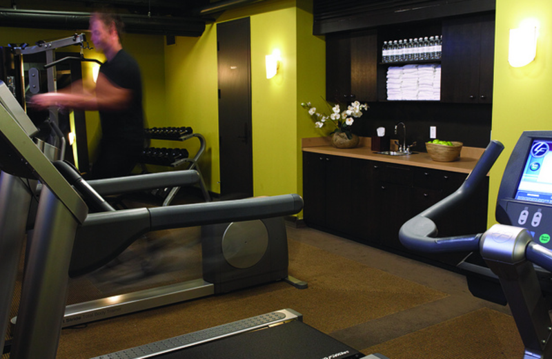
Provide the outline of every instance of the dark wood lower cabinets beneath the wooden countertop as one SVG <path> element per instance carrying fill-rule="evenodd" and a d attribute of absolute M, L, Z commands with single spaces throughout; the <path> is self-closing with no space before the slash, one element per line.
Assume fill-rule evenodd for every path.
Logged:
<path fill-rule="evenodd" d="M 459 188 L 465 173 L 367 159 L 303 153 L 308 226 L 364 244 L 454 266 L 467 253 L 413 253 L 399 240 L 404 222 Z M 488 179 L 475 195 L 437 220 L 441 237 L 486 230 Z"/>

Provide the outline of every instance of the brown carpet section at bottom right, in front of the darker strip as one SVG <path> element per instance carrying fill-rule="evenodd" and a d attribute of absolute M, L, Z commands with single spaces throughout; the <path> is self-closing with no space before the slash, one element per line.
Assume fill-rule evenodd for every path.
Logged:
<path fill-rule="evenodd" d="M 524 347 L 511 316 L 483 308 L 362 352 L 393 359 L 520 359 Z"/>

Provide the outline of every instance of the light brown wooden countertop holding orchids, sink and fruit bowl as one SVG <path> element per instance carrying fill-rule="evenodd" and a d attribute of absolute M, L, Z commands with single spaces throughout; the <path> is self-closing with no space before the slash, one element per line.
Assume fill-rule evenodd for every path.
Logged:
<path fill-rule="evenodd" d="M 412 155 L 390 156 L 378 155 L 371 150 L 370 137 L 360 137 L 360 144 L 357 148 L 335 148 L 331 145 L 329 137 L 311 137 L 302 139 L 302 150 L 304 152 L 322 153 L 324 155 L 335 155 L 343 157 L 354 157 L 359 159 L 370 159 L 371 161 L 380 161 L 394 164 L 404 164 L 406 166 L 416 166 L 424 168 L 433 168 L 442 171 L 451 171 L 458 173 L 470 173 L 477 160 L 484 152 L 484 148 L 462 147 L 460 157 L 453 162 L 437 162 L 425 152 L 413 151 Z M 417 146 L 424 146 L 418 144 Z"/>

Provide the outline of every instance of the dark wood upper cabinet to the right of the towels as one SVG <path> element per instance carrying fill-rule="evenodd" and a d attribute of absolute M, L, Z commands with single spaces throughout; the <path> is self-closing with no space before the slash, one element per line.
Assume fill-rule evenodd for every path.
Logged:
<path fill-rule="evenodd" d="M 441 101 L 491 104 L 495 15 L 445 19 L 442 33 Z"/>

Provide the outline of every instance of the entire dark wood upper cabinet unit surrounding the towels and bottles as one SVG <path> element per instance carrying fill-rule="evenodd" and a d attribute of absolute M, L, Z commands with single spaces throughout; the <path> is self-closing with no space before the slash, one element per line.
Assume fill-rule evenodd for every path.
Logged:
<path fill-rule="evenodd" d="M 391 30 L 390 30 L 391 28 Z M 435 61 L 381 64 L 383 41 L 442 35 L 442 56 Z M 326 99 L 333 102 L 386 101 L 389 66 L 440 63 L 440 101 L 492 104 L 495 14 L 326 35 Z"/>

